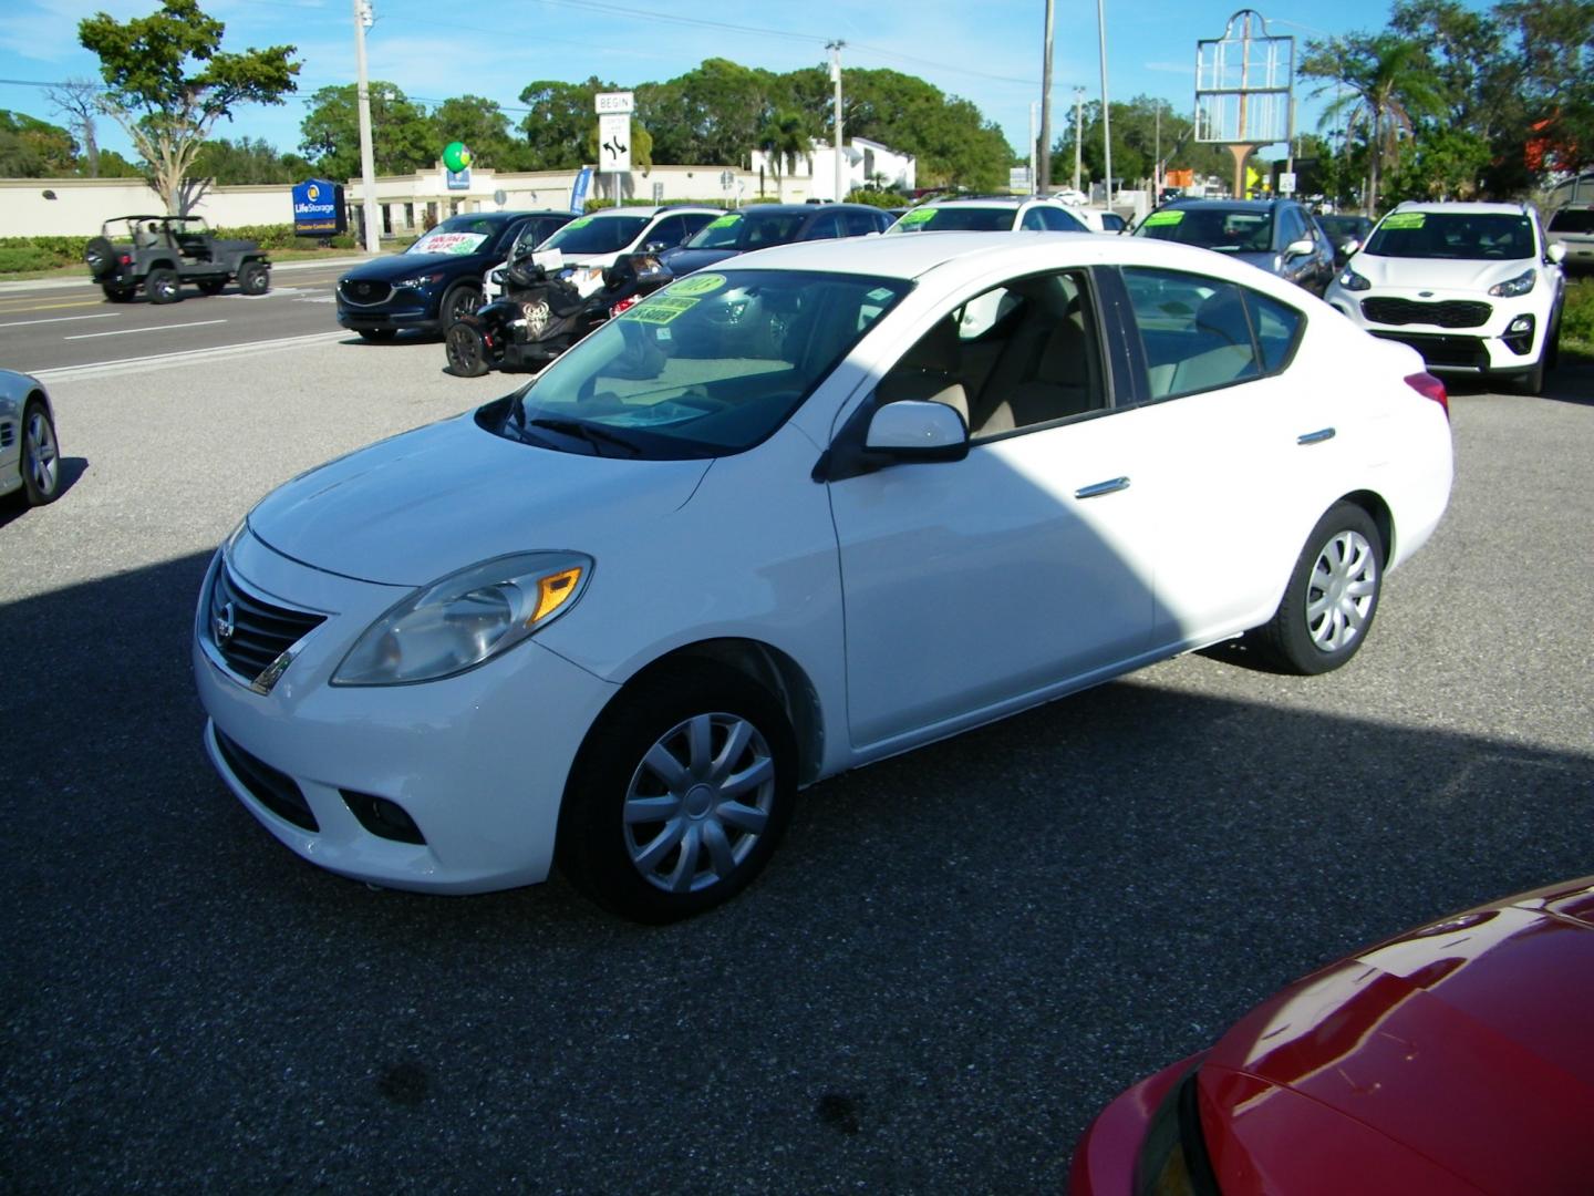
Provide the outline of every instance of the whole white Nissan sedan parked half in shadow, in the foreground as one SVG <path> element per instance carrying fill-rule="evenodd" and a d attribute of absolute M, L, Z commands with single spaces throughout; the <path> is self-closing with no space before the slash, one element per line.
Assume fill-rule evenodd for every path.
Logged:
<path fill-rule="evenodd" d="M 199 598 L 204 738 L 335 872 L 558 861 L 665 922 L 821 778 L 1242 633 L 1345 663 L 1449 490 L 1419 356 L 1245 263 L 784 246 L 265 498 Z"/>

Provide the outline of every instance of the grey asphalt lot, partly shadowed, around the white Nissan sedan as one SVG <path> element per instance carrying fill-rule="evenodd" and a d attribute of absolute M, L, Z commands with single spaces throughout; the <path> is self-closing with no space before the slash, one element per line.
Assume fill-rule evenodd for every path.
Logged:
<path fill-rule="evenodd" d="M 1057 1191 L 1282 982 L 1594 872 L 1588 365 L 1455 388 L 1449 515 L 1339 673 L 1184 657 L 835 778 L 663 930 L 320 872 L 212 775 L 193 603 L 274 483 L 508 389 L 442 364 L 51 383 L 70 488 L 0 515 L 0 1188 Z"/>

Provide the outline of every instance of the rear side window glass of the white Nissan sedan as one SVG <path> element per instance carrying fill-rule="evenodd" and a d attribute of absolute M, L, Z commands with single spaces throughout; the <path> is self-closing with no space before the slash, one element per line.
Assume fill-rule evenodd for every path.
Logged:
<path fill-rule="evenodd" d="M 1301 314 L 1248 287 L 1203 274 L 1125 268 L 1151 399 L 1176 399 L 1283 367 Z M 1261 330 L 1266 330 L 1266 343 Z"/>

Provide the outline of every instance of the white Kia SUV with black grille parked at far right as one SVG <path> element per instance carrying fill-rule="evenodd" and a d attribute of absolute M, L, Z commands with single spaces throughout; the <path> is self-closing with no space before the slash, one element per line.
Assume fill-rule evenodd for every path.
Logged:
<path fill-rule="evenodd" d="M 1412 346 L 1431 370 L 1538 394 L 1556 365 L 1562 258 L 1525 204 L 1401 204 L 1323 298 L 1374 336 Z"/>

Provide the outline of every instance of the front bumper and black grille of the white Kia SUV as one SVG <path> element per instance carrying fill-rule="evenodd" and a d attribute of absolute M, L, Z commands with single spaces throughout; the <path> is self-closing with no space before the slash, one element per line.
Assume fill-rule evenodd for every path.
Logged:
<path fill-rule="evenodd" d="M 1505 298 L 1474 292 L 1422 295 L 1393 287 L 1347 290 L 1336 279 L 1325 298 L 1374 336 L 1414 348 L 1430 370 L 1525 373 L 1545 354 L 1549 305 L 1537 301 L 1532 292 Z M 1459 311 L 1468 306 L 1486 314 L 1473 322 Z M 1427 309 L 1435 319 L 1422 319 Z"/>

